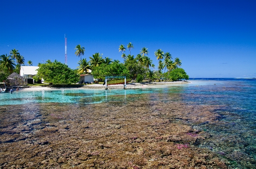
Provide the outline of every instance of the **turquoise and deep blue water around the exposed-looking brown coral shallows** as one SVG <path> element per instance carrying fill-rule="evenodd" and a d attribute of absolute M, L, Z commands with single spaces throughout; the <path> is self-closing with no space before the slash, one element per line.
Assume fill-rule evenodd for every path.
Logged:
<path fill-rule="evenodd" d="M 230 168 L 256 166 L 256 78 L 191 78 L 188 81 L 191 83 L 144 89 L 52 89 L 1 93 L 0 105 L 92 104 L 107 102 L 115 95 L 122 101 L 129 94 L 165 93 L 167 97 L 170 93 L 179 94 L 180 101 L 187 104 L 219 106 L 215 110 L 220 116 L 218 124 L 191 124 L 210 135 L 199 141 L 198 147 L 228 159 Z"/>

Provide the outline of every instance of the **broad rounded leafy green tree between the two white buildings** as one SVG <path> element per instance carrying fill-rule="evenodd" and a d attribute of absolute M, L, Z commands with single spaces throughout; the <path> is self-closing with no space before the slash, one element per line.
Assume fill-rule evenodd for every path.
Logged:
<path fill-rule="evenodd" d="M 54 62 L 48 60 L 45 64 L 41 64 L 37 69 L 37 75 L 43 78 L 46 83 L 71 84 L 77 83 L 80 79 L 76 70 L 70 69 L 68 65 L 57 60 Z"/>

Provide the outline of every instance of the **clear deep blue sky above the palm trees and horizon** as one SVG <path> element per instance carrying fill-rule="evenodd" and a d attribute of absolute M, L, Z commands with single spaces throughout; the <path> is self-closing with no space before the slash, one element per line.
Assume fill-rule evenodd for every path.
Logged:
<path fill-rule="evenodd" d="M 256 77 L 255 0 L 1 0 L 0 55 L 19 50 L 33 66 L 51 59 L 78 66 L 102 53 L 123 61 L 118 48 L 142 47 L 155 65 L 157 49 L 182 60 L 190 78 Z M 126 55 L 129 51 L 126 50 Z"/>

